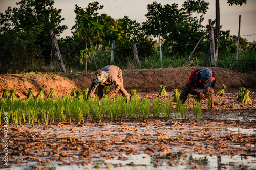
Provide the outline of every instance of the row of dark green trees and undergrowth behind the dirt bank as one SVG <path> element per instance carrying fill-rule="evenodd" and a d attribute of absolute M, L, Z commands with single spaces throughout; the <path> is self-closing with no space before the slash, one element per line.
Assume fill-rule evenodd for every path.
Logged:
<path fill-rule="evenodd" d="M 209 3 L 203 0 L 184 1 L 182 8 L 176 3 L 161 5 L 153 2 L 147 5 L 147 20 L 143 23 L 127 16 L 115 20 L 99 14 L 104 6 L 97 1 L 87 7 L 75 5 L 72 36 L 65 38 L 60 38 L 60 34 L 68 27 L 61 25 L 65 18 L 60 15 L 61 9 L 53 7 L 53 0 L 21 0 L 17 5 L 0 13 L 1 74 L 58 72 L 50 30 L 57 37 L 67 71 L 96 71 L 106 65 L 133 68 L 133 44 L 138 49 L 140 68 L 159 68 L 158 35 L 161 36 L 163 67 L 202 66 L 210 46 L 208 25 L 202 25 Z M 193 13 L 200 16 L 193 17 Z M 215 29 L 215 21 L 212 26 Z M 202 36 L 202 41 L 189 57 Z M 256 42 L 240 37 L 239 62 L 236 63 L 238 37 L 230 35 L 229 30 L 221 30 L 220 37 L 221 56 L 218 56 L 217 67 L 255 72 Z M 217 46 L 218 42 L 215 43 Z M 111 49 L 114 51 L 113 62 Z M 208 62 L 206 66 L 209 66 Z"/>

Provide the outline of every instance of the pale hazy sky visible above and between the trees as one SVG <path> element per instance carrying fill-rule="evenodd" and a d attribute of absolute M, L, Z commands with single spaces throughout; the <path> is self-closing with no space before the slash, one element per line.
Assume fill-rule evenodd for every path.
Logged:
<path fill-rule="evenodd" d="M 16 7 L 17 0 L 0 0 L 0 12 L 4 13 L 8 6 Z M 61 16 L 65 18 L 62 24 L 68 26 L 61 37 L 71 36 L 70 29 L 75 24 L 75 4 L 79 7 L 86 8 L 88 3 L 93 1 L 88 0 L 55 0 L 54 7 L 62 9 Z M 147 4 L 152 4 L 153 1 L 148 0 L 98 0 L 100 5 L 104 5 L 104 8 L 99 13 L 105 13 L 114 19 L 123 18 L 127 15 L 131 20 L 137 20 L 137 22 L 145 22 L 147 14 Z M 177 3 L 181 8 L 184 0 L 158 0 L 158 3 L 162 5 Z M 204 15 L 204 25 L 207 25 L 208 20 L 215 19 L 215 1 L 209 2 L 209 9 Z M 222 30 L 230 30 L 231 35 L 238 35 L 239 15 L 241 15 L 241 30 L 240 35 L 242 38 L 246 38 L 248 41 L 256 40 L 256 35 L 243 36 L 256 34 L 256 0 L 247 0 L 246 5 L 242 6 L 228 6 L 227 0 L 220 0 L 220 24 L 223 26 Z M 195 14 L 196 16 L 196 14 Z"/>

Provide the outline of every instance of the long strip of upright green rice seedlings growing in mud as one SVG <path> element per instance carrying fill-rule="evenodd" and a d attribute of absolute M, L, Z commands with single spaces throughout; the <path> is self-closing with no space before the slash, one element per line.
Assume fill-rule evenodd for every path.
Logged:
<path fill-rule="evenodd" d="M 10 121 L 16 126 L 23 124 L 34 125 L 35 122 L 47 125 L 54 122 L 87 122 L 121 119 L 147 119 L 157 117 L 187 118 L 186 108 L 182 102 L 173 106 L 172 100 L 162 102 L 161 99 L 150 101 L 148 98 L 133 98 L 127 101 L 124 96 L 113 98 L 90 98 L 81 100 L 79 98 L 46 98 L 38 100 L 14 101 L 1 100 L 0 110 L 7 111 Z M 179 110 L 176 115 L 176 111 Z M 26 114 L 27 113 L 27 114 Z M 4 112 L 0 113 L 3 117 Z M 10 122 L 9 122 L 10 123 Z"/>

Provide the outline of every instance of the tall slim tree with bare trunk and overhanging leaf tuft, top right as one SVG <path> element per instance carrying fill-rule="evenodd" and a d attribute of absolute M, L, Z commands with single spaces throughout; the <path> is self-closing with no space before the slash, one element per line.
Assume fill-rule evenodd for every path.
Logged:
<path fill-rule="evenodd" d="M 227 4 L 233 5 L 243 5 L 246 4 L 247 0 L 227 0 Z M 221 37 L 220 37 L 220 0 L 215 0 L 215 14 L 216 14 L 216 39 L 218 41 L 218 58 L 221 59 Z"/>

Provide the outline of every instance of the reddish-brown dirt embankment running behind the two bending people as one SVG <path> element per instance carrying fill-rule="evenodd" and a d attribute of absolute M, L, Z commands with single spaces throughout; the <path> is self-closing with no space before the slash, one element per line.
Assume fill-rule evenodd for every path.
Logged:
<path fill-rule="evenodd" d="M 166 91 L 170 92 L 175 88 L 182 90 L 187 81 L 188 75 L 194 69 L 203 67 L 180 67 L 180 68 L 159 68 L 123 70 L 124 87 L 128 91 L 136 89 L 137 92 L 159 92 L 160 86 L 166 86 Z M 224 68 L 210 68 L 217 75 L 216 89 L 224 84 L 228 92 L 237 91 L 239 87 L 249 90 L 256 89 L 255 74 L 241 74 Z M 44 87 L 45 95 L 48 95 L 50 88 L 55 88 L 58 96 L 69 95 L 73 87 L 78 89 L 89 88 L 94 78 L 94 73 L 73 73 L 82 78 L 69 79 L 60 74 L 5 74 L 0 75 L 0 95 L 4 88 L 16 89 L 16 94 L 20 98 L 25 98 L 28 89 L 34 87 L 37 94 L 39 87 Z"/>

